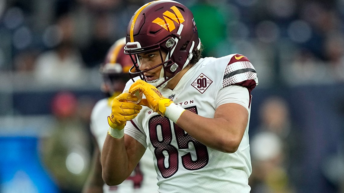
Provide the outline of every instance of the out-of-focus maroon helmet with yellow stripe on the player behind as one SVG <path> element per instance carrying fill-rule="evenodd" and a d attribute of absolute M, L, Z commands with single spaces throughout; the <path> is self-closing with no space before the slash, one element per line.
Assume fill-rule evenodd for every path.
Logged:
<path fill-rule="evenodd" d="M 108 50 L 104 63 L 100 65 L 103 77 L 102 90 L 107 96 L 122 92 L 130 79 L 128 71 L 132 67 L 131 59 L 124 54 L 125 37 L 117 40 Z"/>

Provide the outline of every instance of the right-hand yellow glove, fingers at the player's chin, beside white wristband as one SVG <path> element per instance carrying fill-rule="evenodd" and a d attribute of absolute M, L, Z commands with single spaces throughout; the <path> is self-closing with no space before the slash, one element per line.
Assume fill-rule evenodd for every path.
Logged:
<path fill-rule="evenodd" d="M 141 99 L 138 104 L 148 106 L 162 116 L 165 115 L 166 107 L 173 103 L 172 100 L 163 97 L 156 87 L 143 80 L 135 81 L 129 89 L 129 93 L 132 95 L 137 91 L 142 92 L 146 96 L 146 99 Z"/>

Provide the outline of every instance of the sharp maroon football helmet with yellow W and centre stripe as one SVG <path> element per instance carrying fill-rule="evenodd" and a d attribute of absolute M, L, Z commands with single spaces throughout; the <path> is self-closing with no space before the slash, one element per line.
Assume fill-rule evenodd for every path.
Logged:
<path fill-rule="evenodd" d="M 171 0 L 152 1 L 138 9 L 129 22 L 126 41 L 125 53 L 131 56 L 134 64 L 129 74 L 140 75 L 145 80 L 143 72 L 163 67 L 160 78 L 149 82 L 156 87 L 165 87 L 168 80 L 190 63 L 192 50 L 201 46 L 192 12 Z M 157 66 L 140 71 L 136 54 L 157 50 L 161 58 L 165 52 L 166 59 Z"/>

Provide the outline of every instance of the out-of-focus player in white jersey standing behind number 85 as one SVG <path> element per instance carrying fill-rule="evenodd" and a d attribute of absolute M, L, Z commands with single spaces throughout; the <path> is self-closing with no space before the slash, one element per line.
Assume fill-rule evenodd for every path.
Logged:
<path fill-rule="evenodd" d="M 91 114 L 90 129 L 95 139 L 92 168 L 84 185 L 83 193 L 153 193 L 157 192 L 157 177 L 152 162 L 152 154 L 146 151 L 141 161 L 122 184 L 108 186 L 101 177 L 100 152 L 107 135 L 107 116 L 111 113 L 112 100 L 125 88 L 130 79 L 127 73 L 132 67 L 129 55 L 124 54 L 125 38 L 116 41 L 109 49 L 105 62 L 101 64 L 100 73 L 103 76 L 101 90 L 106 98 L 99 100 Z"/>

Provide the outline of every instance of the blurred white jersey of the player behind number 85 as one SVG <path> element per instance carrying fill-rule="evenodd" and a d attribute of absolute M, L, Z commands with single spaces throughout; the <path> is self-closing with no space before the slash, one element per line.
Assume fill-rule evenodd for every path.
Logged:
<path fill-rule="evenodd" d="M 111 102 L 109 99 L 99 100 L 91 114 L 91 132 L 97 140 L 100 152 L 109 128 L 107 117 L 111 114 Z M 104 193 L 154 193 L 158 192 L 157 182 L 152 152 L 146 150 L 138 166 L 127 180 L 117 186 L 104 184 L 103 191 Z"/>

